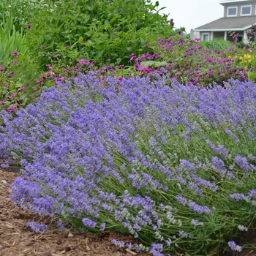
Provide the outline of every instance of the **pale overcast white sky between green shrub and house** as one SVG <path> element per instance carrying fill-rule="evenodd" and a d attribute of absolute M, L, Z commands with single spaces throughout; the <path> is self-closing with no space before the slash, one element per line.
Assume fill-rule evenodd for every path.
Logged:
<path fill-rule="evenodd" d="M 154 4 L 157 0 L 151 0 Z M 175 28 L 190 29 L 203 26 L 206 23 L 223 17 L 224 7 L 219 0 L 158 0 L 159 8 L 166 7 L 160 13 L 169 14 L 173 18 Z"/>

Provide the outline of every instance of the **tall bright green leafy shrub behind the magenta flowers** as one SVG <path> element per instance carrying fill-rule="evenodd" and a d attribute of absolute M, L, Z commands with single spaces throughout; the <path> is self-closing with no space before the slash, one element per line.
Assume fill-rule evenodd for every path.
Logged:
<path fill-rule="evenodd" d="M 130 53 L 145 53 L 146 42 L 173 31 L 167 15 L 157 12 L 158 5 L 150 0 L 45 1 L 30 22 L 30 48 L 41 64 L 56 53 L 65 63 L 85 58 L 127 64 Z"/>

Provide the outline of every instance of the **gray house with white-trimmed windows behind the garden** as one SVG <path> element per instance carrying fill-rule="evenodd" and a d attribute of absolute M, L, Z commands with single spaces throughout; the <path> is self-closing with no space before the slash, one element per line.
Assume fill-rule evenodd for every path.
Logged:
<path fill-rule="evenodd" d="M 246 31 L 256 23 L 256 0 L 220 0 L 219 4 L 224 7 L 224 17 L 194 29 L 193 34 L 205 41 L 233 41 L 232 34 L 239 34 L 238 41 L 246 42 Z"/>

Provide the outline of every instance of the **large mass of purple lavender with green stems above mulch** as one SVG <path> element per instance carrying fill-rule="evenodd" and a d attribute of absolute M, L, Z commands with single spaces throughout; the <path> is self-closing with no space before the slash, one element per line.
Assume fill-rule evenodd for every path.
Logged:
<path fill-rule="evenodd" d="M 0 157 L 20 160 L 25 177 L 15 203 L 79 230 L 130 233 L 153 255 L 236 239 L 255 215 L 256 85 L 106 83 L 90 72 L 45 88 L 16 118 L 1 112 Z"/>

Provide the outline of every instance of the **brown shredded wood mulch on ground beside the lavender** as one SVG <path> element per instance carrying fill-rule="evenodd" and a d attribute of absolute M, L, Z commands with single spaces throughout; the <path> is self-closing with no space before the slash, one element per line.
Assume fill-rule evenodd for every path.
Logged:
<path fill-rule="evenodd" d="M 132 256 L 139 255 L 128 249 L 120 250 L 111 240 L 132 242 L 131 236 L 116 233 L 72 233 L 60 231 L 55 224 L 43 234 L 34 233 L 27 222 L 39 221 L 49 225 L 49 217 L 39 217 L 30 211 L 23 211 L 9 198 L 10 184 L 16 176 L 20 176 L 17 168 L 12 170 L 0 169 L 0 255 L 3 256 Z M 148 255 L 148 254 L 140 254 Z"/>

